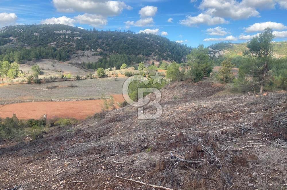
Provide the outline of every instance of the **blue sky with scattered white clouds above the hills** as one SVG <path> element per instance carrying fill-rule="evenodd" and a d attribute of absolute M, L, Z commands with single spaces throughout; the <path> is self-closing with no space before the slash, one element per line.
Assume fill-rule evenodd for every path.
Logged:
<path fill-rule="evenodd" d="M 0 0 L 0 27 L 66 24 L 162 35 L 196 47 L 245 42 L 271 27 L 287 40 L 287 0 Z"/>

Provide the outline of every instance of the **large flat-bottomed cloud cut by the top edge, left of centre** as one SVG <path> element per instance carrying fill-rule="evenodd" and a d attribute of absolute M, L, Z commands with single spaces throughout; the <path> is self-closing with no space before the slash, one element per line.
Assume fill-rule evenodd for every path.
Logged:
<path fill-rule="evenodd" d="M 85 12 L 103 16 L 119 15 L 123 9 L 132 9 L 122 1 L 108 0 L 53 0 L 59 12 Z"/>

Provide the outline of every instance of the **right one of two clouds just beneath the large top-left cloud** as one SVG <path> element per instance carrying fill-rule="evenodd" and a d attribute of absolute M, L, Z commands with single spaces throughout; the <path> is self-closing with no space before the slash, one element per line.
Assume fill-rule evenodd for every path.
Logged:
<path fill-rule="evenodd" d="M 88 24 L 93 27 L 103 27 L 108 23 L 108 20 L 106 17 L 103 17 L 102 15 L 93 15 L 85 13 L 84 15 L 78 15 L 74 17 L 77 22 L 81 24 Z"/>

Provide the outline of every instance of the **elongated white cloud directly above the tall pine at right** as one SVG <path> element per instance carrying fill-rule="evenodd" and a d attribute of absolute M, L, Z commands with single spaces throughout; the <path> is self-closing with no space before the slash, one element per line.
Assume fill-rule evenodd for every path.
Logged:
<path fill-rule="evenodd" d="M 256 32 L 256 31 L 263 31 L 265 28 L 270 27 L 275 30 L 284 30 L 287 29 L 287 26 L 285 26 L 282 23 L 277 22 L 261 22 L 261 23 L 255 23 L 253 25 L 250 25 L 245 29 L 245 32 Z"/>

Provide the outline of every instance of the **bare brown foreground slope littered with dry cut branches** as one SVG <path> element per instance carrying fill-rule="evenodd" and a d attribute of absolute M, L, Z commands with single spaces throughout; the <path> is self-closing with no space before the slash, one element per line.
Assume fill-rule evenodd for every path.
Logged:
<path fill-rule="evenodd" d="M 224 88 L 173 83 L 161 90 L 156 120 L 125 106 L 37 140 L 3 141 L 0 189 L 152 190 L 120 176 L 174 190 L 285 190 L 287 92 Z"/>

